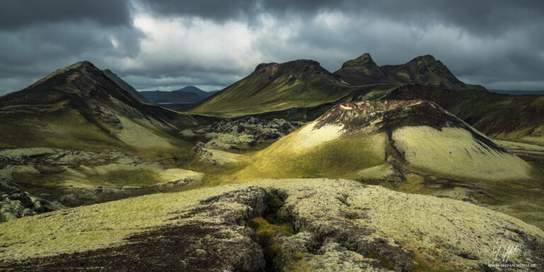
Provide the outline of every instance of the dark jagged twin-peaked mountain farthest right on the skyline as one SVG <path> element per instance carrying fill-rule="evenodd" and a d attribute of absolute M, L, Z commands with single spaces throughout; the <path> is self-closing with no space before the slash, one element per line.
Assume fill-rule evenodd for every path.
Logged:
<path fill-rule="evenodd" d="M 344 62 L 334 74 L 352 85 L 414 83 L 444 89 L 485 91 L 483 86 L 463 83 L 446 65 L 431 55 L 416 57 L 406 64 L 380 67 L 370 54 L 365 53 L 355 60 Z"/>

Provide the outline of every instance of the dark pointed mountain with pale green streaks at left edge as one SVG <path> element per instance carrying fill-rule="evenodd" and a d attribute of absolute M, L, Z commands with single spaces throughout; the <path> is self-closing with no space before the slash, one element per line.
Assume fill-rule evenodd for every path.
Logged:
<path fill-rule="evenodd" d="M 142 103 L 91 62 L 0 97 L 0 146 L 102 150 L 173 147 L 205 119 Z"/>

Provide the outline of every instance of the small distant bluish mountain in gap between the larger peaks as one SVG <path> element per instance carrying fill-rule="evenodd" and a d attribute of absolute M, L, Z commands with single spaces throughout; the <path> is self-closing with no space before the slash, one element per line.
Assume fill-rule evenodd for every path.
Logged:
<path fill-rule="evenodd" d="M 203 91 L 195 86 L 186 86 L 176 91 L 141 91 L 153 103 L 195 103 L 217 91 Z"/>

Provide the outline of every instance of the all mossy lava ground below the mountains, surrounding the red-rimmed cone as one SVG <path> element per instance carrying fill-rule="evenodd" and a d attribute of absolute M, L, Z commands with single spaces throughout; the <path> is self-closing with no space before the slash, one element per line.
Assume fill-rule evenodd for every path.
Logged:
<path fill-rule="evenodd" d="M 3 149 L 0 185 L 11 193 L 0 197 L 0 267 L 468 271 L 509 243 L 523 251 L 510 263 L 544 266 L 544 147 L 497 141 L 535 169 L 523 181 L 417 171 L 405 180 L 240 179 L 256 153 L 300 125 L 249 119 L 185 130 L 189 154 L 148 159 Z"/>

